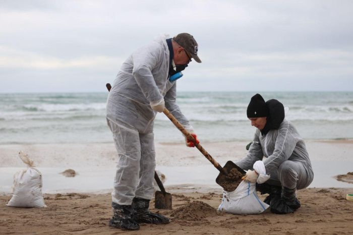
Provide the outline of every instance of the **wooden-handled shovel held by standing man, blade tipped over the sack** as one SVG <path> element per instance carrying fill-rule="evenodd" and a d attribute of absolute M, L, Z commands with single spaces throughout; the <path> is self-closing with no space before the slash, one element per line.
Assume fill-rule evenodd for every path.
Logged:
<path fill-rule="evenodd" d="M 195 138 L 184 128 L 184 126 L 174 118 L 174 116 L 168 111 L 168 109 L 164 108 L 163 113 L 168 117 L 168 119 L 177 127 L 187 138 L 188 140 L 194 142 L 195 147 L 200 150 L 200 152 L 219 170 L 218 177 L 216 178 L 216 183 L 223 188 L 222 182 L 226 180 L 227 175 L 229 174 L 230 170 L 236 168 L 242 174 L 246 172 L 237 166 L 232 161 L 227 161 L 223 167 L 219 165 L 219 163 L 212 158 L 212 156 L 201 146 L 201 144 L 197 144 Z"/>

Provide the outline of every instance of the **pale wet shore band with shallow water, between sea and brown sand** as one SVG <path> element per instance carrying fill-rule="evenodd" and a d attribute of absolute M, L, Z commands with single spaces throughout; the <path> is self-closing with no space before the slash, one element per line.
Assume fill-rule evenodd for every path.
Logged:
<path fill-rule="evenodd" d="M 221 165 L 245 156 L 248 142 L 203 143 L 203 147 Z M 353 140 L 307 141 L 307 149 L 314 169 L 310 188 L 350 188 L 353 184 L 337 181 L 337 175 L 352 172 Z M 196 149 L 184 143 L 156 143 L 156 170 L 163 173 L 166 187 L 203 185 L 219 187 L 215 183 L 218 170 Z M 18 157 L 23 150 L 34 160 L 43 175 L 43 193 L 90 193 L 112 189 L 116 150 L 109 144 L 42 144 L 0 145 L 0 193 L 11 193 L 13 175 L 26 165 Z M 74 169 L 73 178 L 60 174 Z M 105 191 L 104 191 L 105 190 Z"/>

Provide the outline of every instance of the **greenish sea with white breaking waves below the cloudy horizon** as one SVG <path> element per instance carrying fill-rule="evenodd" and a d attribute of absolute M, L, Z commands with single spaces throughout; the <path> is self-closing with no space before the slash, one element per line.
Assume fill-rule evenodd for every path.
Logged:
<path fill-rule="evenodd" d="M 177 103 L 203 142 L 251 140 L 246 109 L 255 92 L 179 92 Z M 278 99 L 304 139 L 353 138 L 353 92 L 261 92 Z M 107 143 L 107 92 L 0 94 L 0 144 Z M 156 142 L 182 142 L 163 113 Z"/>

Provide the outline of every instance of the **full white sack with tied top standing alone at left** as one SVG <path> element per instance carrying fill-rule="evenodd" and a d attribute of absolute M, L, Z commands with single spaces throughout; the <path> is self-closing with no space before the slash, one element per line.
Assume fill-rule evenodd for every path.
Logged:
<path fill-rule="evenodd" d="M 46 207 L 42 195 L 42 174 L 34 168 L 33 160 L 24 152 L 19 157 L 27 165 L 27 169 L 14 175 L 13 195 L 8 206 L 14 207 Z"/>

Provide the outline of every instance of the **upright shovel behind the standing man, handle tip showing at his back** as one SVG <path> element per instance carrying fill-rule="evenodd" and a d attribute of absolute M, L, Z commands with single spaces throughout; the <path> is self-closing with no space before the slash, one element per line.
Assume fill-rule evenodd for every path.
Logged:
<path fill-rule="evenodd" d="M 111 85 L 110 83 L 105 84 L 106 89 L 110 91 Z M 160 191 L 155 192 L 155 199 L 154 199 L 154 207 L 157 209 L 168 209 L 171 210 L 171 194 L 165 192 L 163 183 L 158 177 L 156 171 L 154 171 L 154 180 L 157 182 L 157 185 Z"/>

